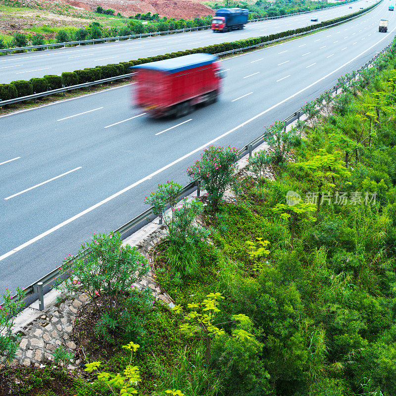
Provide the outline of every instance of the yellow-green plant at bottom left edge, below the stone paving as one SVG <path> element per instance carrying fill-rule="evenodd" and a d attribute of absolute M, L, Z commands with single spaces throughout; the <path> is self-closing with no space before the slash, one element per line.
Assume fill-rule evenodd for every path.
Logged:
<path fill-rule="evenodd" d="M 131 351 L 131 358 L 128 366 L 124 370 L 124 375 L 121 375 L 120 373 L 114 375 L 105 371 L 99 371 L 99 366 L 101 365 L 101 362 L 99 361 L 87 363 L 84 371 L 87 371 L 90 374 L 96 374 L 98 380 L 104 383 L 113 395 L 116 395 L 117 390 L 119 390 L 119 395 L 121 396 L 137 395 L 138 391 L 135 387 L 142 381 L 142 379 L 140 377 L 139 367 L 132 366 L 131 363 L 133 353 L 136 352 L 139 347 L 139 344 L 134 344 L 133 342 L 123 346 L 123 348 Z"/>

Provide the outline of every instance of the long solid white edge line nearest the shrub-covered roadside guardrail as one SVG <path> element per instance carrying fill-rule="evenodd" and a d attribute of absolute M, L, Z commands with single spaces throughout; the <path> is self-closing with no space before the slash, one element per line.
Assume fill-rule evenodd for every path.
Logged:
<path fill-rule="evenodd" d="M 396 30 L 396 27 L 395 27 L 391 32 L 389 32 L 389 33 L 393 33 L 395 30 Z M 155 175 L 157 175 L 157 174 L 163 172 L 164 170 L 166 170 L 166 169 L 172 167 L 173 165 L 177 164 L 178 162 L 183 161 L 184 159 L 190 157 L 191 155 L 195 154 L 196 152 L 202 150 L 203 148 L 205 148 L 205 147 L 207 147 L 207 146 L 210 146 L 211 144 L 213 144 L 213 143 L 217 142 L 218 140 L 224 138 L 225 136 L 229 135 L 230 133 L 235 132 L 237 129 L 242 128 L 243 126 L 245 126 L 245 125 L 248 124 L 249 122 L 255 120 L 256 118 L 261 117 L 262 115 L 264 115 L 264 114 L 267 113 L 268 111 L 273 110 L 275 107 L 278 107 L 278 106 L 280 106 L 281 104 L 285 103 L 286 101 L 288 101 L 288 100 L 294 98 L 295 96 L 301 94 L 302 92 L 306 91 L 307 89 L 313 87 L 315 84 L 317 84 L 317 83 L 323 81 L 323 80 L 326 79 L 327 77 L 329 77 L 329 76 L 331 76 L 332 74 L 338 72 L 340 69 L 342 69 L 343 67 L 347 66 L 350 62 L 353 62 L 353 61 L 354 61 L 355 59 L 357 59 L 359 56 L 363 55 L 364 53 L 366 53 L 367 51 L 369 51 L 370 49 L 372 49 L 373 47 L 375 47 L 378 43 L 381 43 L 381 41 L 385 40 L 387 37 L 388 37 L 388 35 L 387 35 L 387 36 L 384 36 L 381 40 L 379 40 L 377 43 L 373 44 L 371 47 L 365 49 L 363 52 L 360 52 L 358 55 L 356 55 L 356 56 L 353 57 L 352 59 L 348 60 L 348 61 L 347 61 L 346 63 L 344 63 L 343 65 L 339 66 L 337 69 L 335 69 L 335 70 L 333 70 L 332 72 L 326 74 L 325 76 L 321 77 L 319 80 L 316 80 L 316 81 L 313 82 L 312 84 L 309 84 L 309 85 L 306 86 L 305 88 L 302 88 L 301 90 L 299 90 L 299 91 L 296 92 L 295 94 L 291 95 L 290 97 L 281 100 L 280 102 L 278 102 L 278 103 L 274 104 L 273 106 L 267 108 L 266 110 L 264 110 L 264 111 L 262 111 L 261 113 L 255 115 L 254 117 L 251 117 L 250 119 L 248 119 L 247 121 L 243 122 L 242 124 L 236 126 L 235 128 L 230 129 L 229 131 L 223 133 L 222 135 L 218 136 L 217 138 L 211 140 L 210 142 L 207 142 L 207 143 L 205 143 L 204 145 L 202 145 L 202 146 L 196 148 L 195 150 L 190 151 L 189 153 L 187 153 L 187 154 L 181 156 L 180 158 L 175 159 L 173 162 L 169 163 L 168 165 L 163 166 L 162 168 L 156 170 L 155 172 L 152 172 L 152 173 L 149 174 L 148 176 L 145 176 L 143 179 L 138 180 L 137 182 L 131 184 L 131 185 L 128 186 L 128 187 L 125 187 L 123 190 L 121 190 L 121 191 L 119 191 L 119 192 L 113 194 L 112 196 L 110 196 L 110 197 L 108 197 L 108 198 L 105 198 L 105 199 L 101 200 L 100 202 L 96 203 L 95 205 L 89 207 L 88 209 L 85 209 L 85 210 L 83 210 L 82 212 L 77 213 L 77 214 L 74 215 L 73 217 L 70 217 L 69 219 L 63 221 L 62 223 L 60 223 L 60 224 L 58 224 L 58 225 L 56 225 L 56 226 L 50 228 L 49 230 L 47 230 L 47 231 L 43 232 L 42 234 L 38 235 L 37 237 L 35 237 L 35 238 L 33 238 L 33 239 L 31 239 L 31 240 L 25 242 L 25 243 L 22 244 L 22 245 L 19 245 L 18 247 L 15 247 L 14 249 L 12 249 L 12 250 L 10 250 L 10 251 L 4 253 L 4 254 L 2 254 L 2 255 L 0 256 L 0 261 L 3 260 L 4 258 L 7 258 L 7 257 L 10 256 L 11 254 L 14 254 L 14 253 L 16 253 L 17 251 L 23 249 L 24 247 L 27 247 L 27 246 L 29 246 L 29 245 L 32 245 L 32 244 L 35 243 L 36 241 L 39 241 L 40 239 L 43 239 L 43 238 L 46 237 L 47 235 L 53 233 L 54 231 L 58 230 L 59 228 L 62 228 L 63 226 L 65 226 L 65 225 L 71 223 L 72 221 L 78 219 L 79 217 L 84 216 L 85 214 L 91 212 L 92 210 L 96 209 L 97 207 L 103 205 L 104 203 L 106 203 L 106 202 L 108 202 L 108 201 L 110 201 L 110 200 L 112 200 L 112 199 L 114 199 L 114 198 L 117 198 L 117 197 L 120 196 L 121 194 L 126 193 L 127 191 L 133 189 L 133 188 L 136 187 L 137 185 L 139 185 L 139 184 L 145 182 L 146 180 L 151 179 L 151 178 L 154 177 Z"/>

